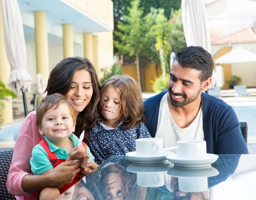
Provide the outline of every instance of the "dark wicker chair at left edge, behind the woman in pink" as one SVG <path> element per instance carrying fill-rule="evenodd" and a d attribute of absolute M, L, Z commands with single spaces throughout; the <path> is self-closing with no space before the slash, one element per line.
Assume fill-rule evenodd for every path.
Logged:
<path fill-rule="evenodd" d="M 12 150 L 0 151 L 0 200 L 16 200 L 15 196 L 9 193 L 6 188 L 7 175 L 12 163 Z"/>

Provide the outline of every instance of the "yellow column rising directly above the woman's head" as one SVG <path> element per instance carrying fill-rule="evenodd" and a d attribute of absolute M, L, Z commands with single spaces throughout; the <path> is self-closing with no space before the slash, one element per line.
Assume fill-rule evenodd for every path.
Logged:
<path fill-rule="evenodd" d="M 74 56 L 73 29 L 72 24 L 62 24 L 63 31 L 63 56 L 64 58 Z"/>

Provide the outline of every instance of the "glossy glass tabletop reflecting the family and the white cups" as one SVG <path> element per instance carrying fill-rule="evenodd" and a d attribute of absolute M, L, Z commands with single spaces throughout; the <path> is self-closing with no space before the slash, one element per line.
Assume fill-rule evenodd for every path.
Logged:
<path fill-rule="evenodd" d="M 203 168 L 177 167 L 169 161 L 138 164 L 126 156 L 112 156 L 58 200 L 255 199 L 255 185 L 253 154 L 219 155 Z"/>

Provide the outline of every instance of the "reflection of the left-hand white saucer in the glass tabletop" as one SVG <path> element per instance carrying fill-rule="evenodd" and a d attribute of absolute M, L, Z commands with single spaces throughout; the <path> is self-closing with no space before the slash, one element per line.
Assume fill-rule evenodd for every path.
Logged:
<path fill-rule="evenodd" d="M 126 170 L 133 173 L 155 173 L 167 171 L 171 167 L 172 164 L 169 162 L 155 164 L 131 163 L 130 165 L 127 166 Z"/>

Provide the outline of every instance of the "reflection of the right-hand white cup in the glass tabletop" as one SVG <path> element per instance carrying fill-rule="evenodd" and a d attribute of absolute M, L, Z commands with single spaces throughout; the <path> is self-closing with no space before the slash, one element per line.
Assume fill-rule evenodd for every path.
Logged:
<path fill-rule="evenodd" d="M 187 192 L 207 191 L 207 177 L 178 177 L 179 190 Z"/>

